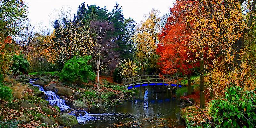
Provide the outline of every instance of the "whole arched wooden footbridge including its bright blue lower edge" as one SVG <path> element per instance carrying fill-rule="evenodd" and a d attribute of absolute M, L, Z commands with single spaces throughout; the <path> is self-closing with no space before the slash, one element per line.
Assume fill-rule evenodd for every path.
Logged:
<path fill-rule="evenodd" d="M 131 78 L 126 78 L 122 80 L 122 84 L 126 86 L 128 89 L 143 87 L 143 86 L 172 86 L 172 87 L 183 87 L 178 79 L 179 77 L 174 77 L 170 75 L 142 75 L 142 76 L 134 76 Z M 170 84 L 171 83 L 171 84 Z M 174 84 L 179 83 L 179 84 Z"/>

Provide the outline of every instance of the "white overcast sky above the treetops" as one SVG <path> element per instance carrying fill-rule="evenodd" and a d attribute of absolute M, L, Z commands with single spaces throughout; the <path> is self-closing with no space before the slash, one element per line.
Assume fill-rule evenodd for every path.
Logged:
<path fill-rule="evenodd" d="M 38 26 L 43 22 L 44 26 L 49 28 L 49 22 L 57 18 L 58 12 L 64 9 L 70 9 L 72 19 L 76 14 L 79 5 L 85 1 L 85 4 L 96 4 L 103 8 L 107 7 L 108 12 L 111 12 L 115 6 L 116 0 L 24 0 L 28 3 L 28 18 L 32 26 L 35 26 L 38 31 Z M 124 18 L 131 17 L 137 23 L 143 20 L 143 15 L 152 10 L 158 9 L 162 16 L 169 12 L 174 0 L 118 0 L 119 6 L 122 7 Z"/>

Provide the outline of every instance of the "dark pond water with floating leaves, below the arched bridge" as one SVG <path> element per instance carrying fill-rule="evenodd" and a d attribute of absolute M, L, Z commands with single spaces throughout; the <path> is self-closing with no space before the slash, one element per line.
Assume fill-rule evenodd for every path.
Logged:
<path fill-rule="evenodd" d="M 180 103 L 171 98 L 166 87 L 147 86 L 136 88 L 138 94 L 124 105 L 109 108 L 106 114 L 91 114 L 76 128 L 131 127 L 131 128 L 184 128 L 180 122 Z M 164 90 L 164 92 L 159 92 Z"/>

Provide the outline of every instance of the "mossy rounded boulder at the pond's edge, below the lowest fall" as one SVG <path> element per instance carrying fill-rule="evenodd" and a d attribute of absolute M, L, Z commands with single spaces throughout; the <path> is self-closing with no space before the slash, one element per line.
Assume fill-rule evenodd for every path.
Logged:
<path fill-rule="evenodd" d="M 70 114 L 62 114 L 56 120 L 60 123 L 61 126 L 74 127 L 78 124 L 76 116 Z"/>

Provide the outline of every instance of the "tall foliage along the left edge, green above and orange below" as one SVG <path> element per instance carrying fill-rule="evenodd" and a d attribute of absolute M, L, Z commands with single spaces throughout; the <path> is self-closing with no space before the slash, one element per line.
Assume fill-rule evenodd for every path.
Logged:
<path fill-rule="evenodd" d="M 0 1 L 0 73 L 7 73 L 12 65 L 12 37 L 22 28 L 27 9 L 22 0 Z"/>

